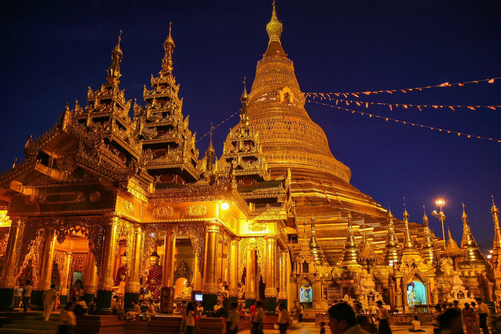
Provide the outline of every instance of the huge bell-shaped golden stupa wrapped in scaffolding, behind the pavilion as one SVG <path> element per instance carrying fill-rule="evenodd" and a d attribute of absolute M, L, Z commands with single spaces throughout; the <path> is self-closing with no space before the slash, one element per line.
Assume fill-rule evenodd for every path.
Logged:
<path fill-rule="evenodd" d="M 350 169 L 334 158 L 324 130 L 308 116 L 294 64 L 280 42 L 282 23 L 275 5 L 266 28 L 270 41 L 256 68 L 247 114 L 250 127 L 259 131 L 272 179 L 290 168 L 296 218 L 302 221 L 313 213 L 317 240 L 329 263 L 338 262 L 343 252 L 347 234 L 345 210 L 352 211 L 354 224 L 367 225 L 374 249 L 381 253 L 388 226 L 386 209 L 350 184 Z M 394 224 L 396 235 L 403 239 L 403 222 L 396 220 Z M 290 226 L 294 226 L 292 221 Z M 422 238 L 419 227 L 422 225 L 409 223 L 414 239 Z M 303 226 L 298 228 L 298 235 L 302 235 Z"/>

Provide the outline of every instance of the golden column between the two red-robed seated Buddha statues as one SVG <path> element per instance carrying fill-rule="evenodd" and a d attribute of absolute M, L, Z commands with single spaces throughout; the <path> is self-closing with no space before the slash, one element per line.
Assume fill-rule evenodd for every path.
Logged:
<path fill-rule="evenodd" d="M 130 263 L 130 278 L 125 283 L 124 308 L 132 310 L 132 300 L 139 300 L 139 263 L 141 261 L 141 245 L 143 242 L 143 227 L 134 224 L 134 247 L 132 250 L 132 263 Z"/>

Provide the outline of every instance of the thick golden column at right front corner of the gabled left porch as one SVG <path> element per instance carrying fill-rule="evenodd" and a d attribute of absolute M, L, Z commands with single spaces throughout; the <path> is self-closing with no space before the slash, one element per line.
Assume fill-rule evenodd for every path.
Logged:
<path fill-rule="evenodd" d="M 118 224 L 121 215 L 118 212 L 104 213 L 104 238 L 99 280 L 97 284 L 97 311 L 101 314 L 111 314 L 111 293 L 113 291 L 113 268 L 118 241 Z"/>

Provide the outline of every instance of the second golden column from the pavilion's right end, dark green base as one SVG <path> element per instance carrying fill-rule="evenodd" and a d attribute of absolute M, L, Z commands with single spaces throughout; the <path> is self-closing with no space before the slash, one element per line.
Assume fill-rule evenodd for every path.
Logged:
<path fill-rule="evenodd" d="M 277 235 L 266 235 L 265 312 L 275 313 L 277 306 Z"/>

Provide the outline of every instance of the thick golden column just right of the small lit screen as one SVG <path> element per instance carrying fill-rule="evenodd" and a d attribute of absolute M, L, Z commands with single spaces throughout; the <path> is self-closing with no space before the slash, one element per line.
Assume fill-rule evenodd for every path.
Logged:
<path fill-rule="evenodd" d="M 217 243 L 219 242 L 220 223 L 206 221 L 205 226 L 205 269 L 202 293 L 203 307 L 211 309 L 217 299 Z"/>

